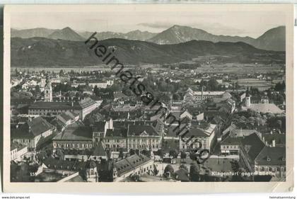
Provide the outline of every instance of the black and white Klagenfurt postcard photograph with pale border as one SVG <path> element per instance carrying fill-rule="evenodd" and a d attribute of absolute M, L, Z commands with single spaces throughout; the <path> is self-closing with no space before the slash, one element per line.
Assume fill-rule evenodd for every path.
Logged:
<path fill-rule="evenodd" d="M 289 6 L 170 6 L 4 8 L 10 186 L 293 186 Z"/>

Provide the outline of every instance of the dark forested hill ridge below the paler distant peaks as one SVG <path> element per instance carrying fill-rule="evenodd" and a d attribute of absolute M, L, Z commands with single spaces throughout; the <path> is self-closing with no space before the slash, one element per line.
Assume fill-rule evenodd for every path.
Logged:
<path fill-rule="evenodd" d="M 285 52 L 260 50 L 245 42 L 209 42 L 191 40 L 172 45 L 112 38 L 101 40 L 115 48 L 115 57 L 123 64 L 165 64 L 214 55 L 224 63 L 285 63 Z M 11 38 L 11 66 L 54 67 L 103 64 L 82 41 L 49 38 Z"/>

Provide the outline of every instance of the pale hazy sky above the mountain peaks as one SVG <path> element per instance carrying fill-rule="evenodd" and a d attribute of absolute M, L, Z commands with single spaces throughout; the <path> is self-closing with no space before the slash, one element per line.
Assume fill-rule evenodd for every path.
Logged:
<path fill-rule="evenodd" d="M 221 12 L 98 12 L 98 13 L 12 13 L 11 27 L 53 28 L 69 26 L 74 30 L 113 31 L 127 33 L 131 30 L 147 30 L 159 33 L 172 25 L 188 25 L 201 28 L 215 35 L 239 35 L 257 38 L 270 28 L 284 25 L 281 13 L 269 11 L 221 11 Z"/>

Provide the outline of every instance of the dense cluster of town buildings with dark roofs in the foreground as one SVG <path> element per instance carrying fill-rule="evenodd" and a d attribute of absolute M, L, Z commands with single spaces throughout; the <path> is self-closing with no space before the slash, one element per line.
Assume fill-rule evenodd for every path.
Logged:
<path fill-rule="evenodd" d="M 113 91 L 113 98 L 104 98 L 103 105 L 103 98 L 97 100 L 93 93 L 66 98 L 60 92 L 54 98 L 52 81 L 31 82 L 42 86 L 44 98 L 11 119 L 11 161 L 33 161 L 38 165 L 36 176 L 47 172 L 61 175 L 57 181 L 132 181 L 136 176 L 156 180 L 150 176 L 168 177 L 163 167 L 170 164 L 175 181 L 190 181 L 189 172 L 175 163 L 201 158 L 203 151 L 211 161 L 222 157 L 237 161 L 243 172 L 286 176 L 286 135 L 281 127 L 272 130 L 260 121 L 244 128 L 231 122 L 237 113 L 284 115 L 267 96 L 254 103 L 249 89 L 235 93 L 189 86 L 180 100 L 170 96 L 170 101 L 161 103 L 160 111 L 160 106 L 145 106 L 122 91 Z M 108 79 L 88 82 L 88 86 L 102 89 L 113 84 Z M 72 87 L 83 85 L 86 82 L 71 83 Z M 184 164 L 190 167 L 187 161 Z M 200 168 L 206 176 L 214 169 L 225 169 L 221 164 L 218 168 L 206 165 L 203 172 Z"/>

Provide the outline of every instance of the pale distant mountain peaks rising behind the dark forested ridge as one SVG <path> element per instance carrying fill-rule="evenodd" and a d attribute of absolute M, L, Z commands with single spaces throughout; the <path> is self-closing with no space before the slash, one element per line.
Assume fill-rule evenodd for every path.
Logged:
<path fill-rule="evenodd" d="M 81 41 L 86 40 L 91 32 L 76 33 L 69 27 L 62 30 L 53 30 L 47 28 L 33 28 L 27 30 L 11 29 L 11 37 L 15 38 L 51 38 L 60 40 Z M 279 26 L 267 30 L 259 38 L 228 36 L 228 35 L 213 35 L 198 28 L 191 28 L 182 25 L 173 25 L 171 28 L 164 30 L 161 33 L 149 33 L 147 31 L 141 32 L 134 30 L 129 33 L 113 33 L 101 32 L 97 33 L 98 40 L 106 40 L 110 38 L 123 38 L 127 40 L 140 40 L 153 42 L 160 45 L 177 44 L 188 42 L 191 40 L 206 40 L 211 42 L 245 42 L 262 50 L 285 51 L 286 50 L 286 28 Z"/>

